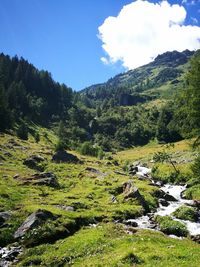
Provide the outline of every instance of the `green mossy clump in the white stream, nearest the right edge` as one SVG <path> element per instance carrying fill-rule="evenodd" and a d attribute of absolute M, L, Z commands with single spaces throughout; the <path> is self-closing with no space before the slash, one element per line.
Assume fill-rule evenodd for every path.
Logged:
<path fill-rule="evenodd" d="M 197 209 L 185 205 L 174 211 L 173 215 L 181 220 L 188 220 L 192 222 L 196 222 L 198 220 Z"/>

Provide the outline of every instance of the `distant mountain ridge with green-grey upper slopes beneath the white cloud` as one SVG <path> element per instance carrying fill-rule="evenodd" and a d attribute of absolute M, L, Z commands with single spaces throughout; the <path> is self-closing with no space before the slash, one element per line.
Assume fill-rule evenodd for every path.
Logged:
<path fill-rule="evenodd" d="M 107 82 L 86 87 L 80 94 L 95 101 L 106 97 L 119 99 L 124 93 L 140 97 L 146 94 L 153 98 L 163 96 L 163 86 L 174 89 L 182 84 L 183 76 L 188 70 L 188 61 L 194 53 L 190 50 L 165 52 L 144 66 L 120 73 Z"/>

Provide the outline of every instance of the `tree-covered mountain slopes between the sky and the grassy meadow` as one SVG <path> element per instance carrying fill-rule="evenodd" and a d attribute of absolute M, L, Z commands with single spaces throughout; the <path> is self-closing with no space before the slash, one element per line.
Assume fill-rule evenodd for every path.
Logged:
<path fill-rule="evenodd" d="M 177 117 L 180 101 L 174 99 L 187 87 L 193 54 L 164 53 L 148 65 L 79 93 L 23 58 L 1 54 L 0 129 L 38 139 L 39 133 L 29 127 L 35 123 L 53 129 L 63 147 L 92 150 L 96 146 L 104 151 L 144 145 L 155 138 L 174 142 L 192 136 L 183 117 Z"/>

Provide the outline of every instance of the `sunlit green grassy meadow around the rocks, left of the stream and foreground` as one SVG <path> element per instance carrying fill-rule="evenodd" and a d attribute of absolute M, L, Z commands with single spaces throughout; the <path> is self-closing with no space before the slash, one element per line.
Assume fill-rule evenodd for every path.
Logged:
<path fill-rule="evenodd" d="M 159 232 L 127 229 L 113 223 L 143 214 L 136 199 L 124 201 L 120 190 L 128 180 L 139 188 L 151 209 L 157 207 L 157 188 L 148 181 L 130 177 L 125 167 L 127 160 L 140 160 L 152 166 L 152 155 L 163 149 L 161 145 L 119 152 L 113 159 L 105 160 L 71 152 L 83 163 L 57 164 L 51 161 L 56 137 L 46 129 L 38 130 L 39 143 L 31 136 L 22 141 L 8 134 L 0 135 L 0 211 L 12 214 L 9 227 L 0 229 L 0 246 L 15 241 L 13 233 L 33 211 L 41 208 L 58 216 L 25 236 L 24 253 L 19 256 L 17 266 L 198 266 L 199 245 L 191 240 L 175 240 Z M 181 171 L 191 175 L 188 159 L 194 158 L 195 152 L 189 142 L 175 144 L 171 153 L 180 160 Z M 24 183 L 36 170 L 26 167 L 23 160 L 35 154 L 45 158 L 43 169 L 57 176 L 59 188 Z M 88 167 L 98 172 L 91 172 Z M 162 179 L 172 171 L 168 164 L 159 165 L 158 169 Z M 16 174 L 20 178 L 13 178 Z M 116 203 L 111 200 L 113 195 Z M 200 199 L 198 186 L 191 195 Z M 76 208 L 66 211 L 64 206 Z"/>

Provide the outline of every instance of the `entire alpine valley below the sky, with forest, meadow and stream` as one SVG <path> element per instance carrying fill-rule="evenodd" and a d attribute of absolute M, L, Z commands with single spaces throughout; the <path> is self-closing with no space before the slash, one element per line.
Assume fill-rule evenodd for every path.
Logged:
<path fill-rule="evenodd" d="M 0 266 L 198 267 L 200 50 L 79 92 L 0 54 Z"/>

